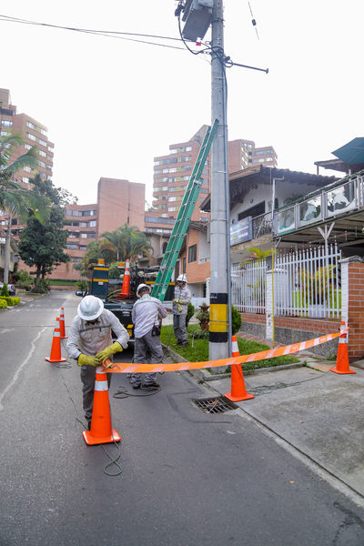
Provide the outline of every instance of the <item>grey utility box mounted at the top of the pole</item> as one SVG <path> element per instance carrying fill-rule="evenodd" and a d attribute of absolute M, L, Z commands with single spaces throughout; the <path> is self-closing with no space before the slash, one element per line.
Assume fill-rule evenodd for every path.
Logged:
<path fill-rule="evenodd" d="M 207 33 L 212 20 L 213 0 L 187 0 L 182 21 L 186 21 L 182 35 L 186 40 L 196 42 Z"/>

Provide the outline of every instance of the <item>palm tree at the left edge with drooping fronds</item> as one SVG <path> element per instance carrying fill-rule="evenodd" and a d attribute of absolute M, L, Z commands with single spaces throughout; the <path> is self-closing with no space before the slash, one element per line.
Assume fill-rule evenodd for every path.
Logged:
<path fill-rule="evenodd" d="M 5 236 L 4 282 L 9 280 L 10 238 L 13 217 L 22 220 L 30 212 L 42 221 L 47 214 L 47 202 L 30 191 L 23 189 L 15 182 L 15 174 L 23 167 L 35 167 L 37 149 L 31 147 L 25 154 L 12 160 L 16 148 L 23 146 L 20 136 L 0 136 L 0 208 L 8 212 L 8 224 Z"/>

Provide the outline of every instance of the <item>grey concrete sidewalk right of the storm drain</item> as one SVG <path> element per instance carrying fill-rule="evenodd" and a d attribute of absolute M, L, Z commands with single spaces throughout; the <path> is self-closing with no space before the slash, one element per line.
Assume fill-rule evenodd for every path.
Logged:
<path fill-rule="evenodd" d="M 236 404 L 364 506 L 364 370 L 353 364 L 350 369 L 357 371 L 355 375 L 338 375 L 329 371 L 335 362 L 308 364 L 312 368 L 247 374 L 245 386 L 255 398 Z M 208 381 L 208 385 L 219 394 L 231 390 L 230 379 Z"/>

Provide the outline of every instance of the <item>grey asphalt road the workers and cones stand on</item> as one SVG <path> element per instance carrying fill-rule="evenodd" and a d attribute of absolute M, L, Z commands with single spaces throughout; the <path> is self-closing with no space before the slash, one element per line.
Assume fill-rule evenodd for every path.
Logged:
<path fill-rule="evenodd" d="M 1 546 L 364 544 L 361 509 L 239 410 L 198 410 L 214 394 L 187 372 L 124 399 L 119 386 L 143 393 L 113 377 L 122 473 L 106 475 L 118 450 L 83 440 L 76 364 L 45 361 L 59 309 L 67 329 L 78 303 L 59 291 L 0 314 Z"/>

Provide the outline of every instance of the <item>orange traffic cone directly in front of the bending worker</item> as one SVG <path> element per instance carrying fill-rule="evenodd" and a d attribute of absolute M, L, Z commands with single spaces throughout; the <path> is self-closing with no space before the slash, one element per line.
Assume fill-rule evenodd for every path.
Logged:
<path fill-rule="evenodd" d="M 91 430 L 84 430 L 82 434 L 88 446 L 121 440 L 116 430 L 111 428 L 107 374 L 102 366 L 96 368 Z"/>

